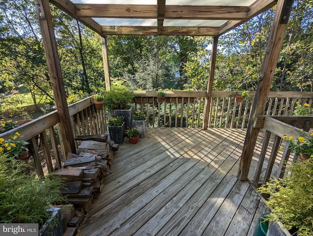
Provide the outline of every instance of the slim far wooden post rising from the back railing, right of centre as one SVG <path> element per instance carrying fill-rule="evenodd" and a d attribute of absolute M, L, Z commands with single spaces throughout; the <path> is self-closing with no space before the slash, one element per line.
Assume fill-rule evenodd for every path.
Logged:
<path fill-rule="evenodd" d="M 203 130 L 207 129 L 209 113 L 211 111 L 211 99 L 212 99 L 212 88 L 213 88 L 213 79 L 214 79 L 214 71 L 215 71 L 215 62 L 216 62 L 216 54 L 217 54 L 217 45 L 218 45 L 219 37 L 213 37 L 212 43 L 212 52 L 211 52 L 211 63 L 210 63 L 210 75 L 207 81 L 207 90 L 206 97 L 204 102 L 204 113 L 203 113 Z"/>

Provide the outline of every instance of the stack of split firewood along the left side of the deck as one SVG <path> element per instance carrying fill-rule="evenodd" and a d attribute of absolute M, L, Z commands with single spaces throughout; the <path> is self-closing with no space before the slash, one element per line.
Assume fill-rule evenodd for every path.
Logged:
<path fill-rule="evenodd" d="M 84 218 L 87 219 L 92 202 L 104 188 L 104 177 L 109 174 L 119 145 L 107 142 L 106 135 L 79 136 L 76 140 L 81 140 L 80 148 L 76 149 L 75 154 L 68 153 L 63 168 L 52 174 L 66 179 L 61 193 L 67 195 L 67 201 L 75 207 L 74 216 L 67 226 L 77 229 Z M 77 232 L 74 229 L 70 231 Z"/>

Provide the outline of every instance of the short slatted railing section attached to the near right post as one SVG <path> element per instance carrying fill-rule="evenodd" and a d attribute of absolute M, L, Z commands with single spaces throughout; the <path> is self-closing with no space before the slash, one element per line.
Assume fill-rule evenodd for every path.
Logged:
<path fill-rule="evenodd" d="M 268 182 L 270 177 L 282 178 L 285 174 L 286 163 L 297 159 L 296 155 L 290 155 L 289 143 L 282 138 L 286 135 L 297 139 L 302 129 L 308 132 L 313 127 L 313 116 L 259 116 L 255 119 L 254 127 L 266 130 L 253 179 L 254 186 L 259 187 Z M 269 142 L 270 139 L 272 142 Z M 283 151 L 279 151 L 283 146 Z M 275 168 L 273 168 L 274 164 L 277 165 Z"/>

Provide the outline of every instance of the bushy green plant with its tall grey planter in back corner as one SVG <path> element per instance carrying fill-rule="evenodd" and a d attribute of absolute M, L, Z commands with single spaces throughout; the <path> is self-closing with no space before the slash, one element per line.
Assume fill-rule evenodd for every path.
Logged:
<path fill-rule="evenodd" d="M 113 85 L 104 98 L 104 105 L 108 108 L 109 118 L 123 116 L 125 126 L 131 128 L 133 120 L 131 103 L 134 96 L 134 92 L 126 86 L 121 84 Z"/>

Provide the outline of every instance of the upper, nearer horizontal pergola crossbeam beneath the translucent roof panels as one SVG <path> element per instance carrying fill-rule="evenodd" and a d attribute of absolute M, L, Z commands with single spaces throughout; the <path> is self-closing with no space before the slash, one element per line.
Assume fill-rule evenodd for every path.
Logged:
<path fill-rule="evenodd" d="M 159 0 L 157 5 L 76 4 L 75 6 L 78 18 L 248 20 L 246 6 L 165 5 L 165 0 Z"/>

